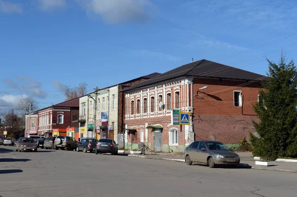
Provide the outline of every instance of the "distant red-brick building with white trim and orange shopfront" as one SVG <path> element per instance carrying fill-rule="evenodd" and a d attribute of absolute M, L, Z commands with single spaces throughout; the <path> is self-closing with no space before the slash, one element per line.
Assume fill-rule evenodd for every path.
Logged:
<path fill-rule="evenodd" d="M 25 130 L 25 136 L 42 135 L 45 137 L 68 135 L 76 137 L 78 122 L 72 118 L 79 114 L 79 98 L 74 98 L 47 108 L 38 110 L 30 115 L 31 129 Z M 26 115 L 26 128 L 29 127 L 29 115 Z"/>

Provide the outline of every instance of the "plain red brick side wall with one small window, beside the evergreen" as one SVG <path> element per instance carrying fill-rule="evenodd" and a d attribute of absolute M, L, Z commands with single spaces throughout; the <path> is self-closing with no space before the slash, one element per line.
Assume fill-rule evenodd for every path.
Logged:
<path fill-rule="evenodd" d="M 260 83 L 241 86 L 245 81 L 197 79 L 194 81 L 193 124 L 195 140 L 216 140 L 226 144 L 238 144 L 242 138 L 249 139 L 254 132 L 252 120 L 258 118 L 252 105 L 257 102 Z M 198 90 L 207 85 L 208 88 Z M 243 107 L 234 106 L 233 91 L 243 94 Z"/>

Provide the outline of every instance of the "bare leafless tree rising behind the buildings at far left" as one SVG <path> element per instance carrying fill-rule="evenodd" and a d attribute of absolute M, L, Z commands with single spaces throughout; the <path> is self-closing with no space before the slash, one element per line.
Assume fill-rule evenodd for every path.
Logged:
<path fill-rule="evenodd" d="M 29 111 L 29 104 L 31 104 L 31 112 L 34 112 L 38 109 L 38 107 L 36 106 L 37 102 L 31 97 L 21 97 L 17 104 L 17 111 L 20 113 L 20 116 L 22 118 L 22 125 L 25 125 L 26 114 L 28 114 Z"/>

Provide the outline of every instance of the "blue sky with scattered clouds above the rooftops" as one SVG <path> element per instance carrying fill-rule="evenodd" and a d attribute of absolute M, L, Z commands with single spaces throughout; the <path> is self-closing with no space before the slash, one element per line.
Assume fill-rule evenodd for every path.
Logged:
<path fill-rule="evenodd" d="M 296 16 L 295 0 L 0 0 L 0 111 L 192 58 L 265 75 L 265 57 L 277 61 L 282 47 L 296 58 Z"/>

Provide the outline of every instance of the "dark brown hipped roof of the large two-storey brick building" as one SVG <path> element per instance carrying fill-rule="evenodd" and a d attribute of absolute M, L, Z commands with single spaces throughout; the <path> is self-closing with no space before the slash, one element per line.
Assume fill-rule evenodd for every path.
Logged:
<path fill-rule="evenodd" d="M 191 62 L 189 64 L 177 67 L 154 78 L 148 79 L 134 86 L 128 87 L 125 89 L 125 91 L 138 89 L 140 87 L 148 86 L 151 84 L 171 82 L 178 79 L 184 79 L 185 77 L 204 77 L 240 80 L 257 79 L 260 81 L 267 79 L 263 75 L 202 59 L 196 62 Z"/>

